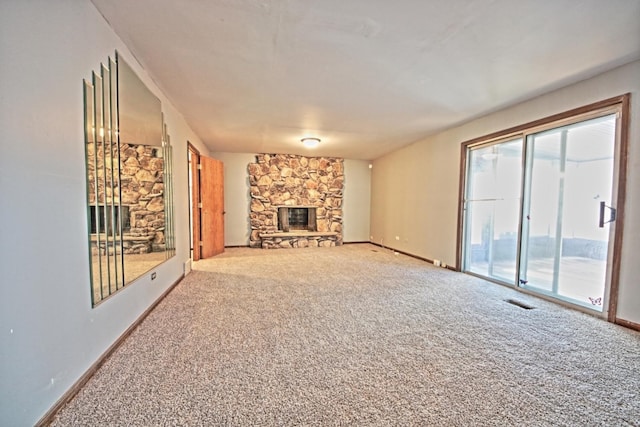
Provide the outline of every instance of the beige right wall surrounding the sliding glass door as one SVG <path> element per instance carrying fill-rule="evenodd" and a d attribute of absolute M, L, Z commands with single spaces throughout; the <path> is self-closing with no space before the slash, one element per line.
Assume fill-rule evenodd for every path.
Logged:
<path fill-rule="evenodd" d="M 460 143 L 552 114 L 632 93 L 629 173 L 618 317 L 640 323 L 640 61 L 431 136 L 373 163 L 375 243 L 453 265 Z M 396 236 L 399 240 L 396 240 Z"/>

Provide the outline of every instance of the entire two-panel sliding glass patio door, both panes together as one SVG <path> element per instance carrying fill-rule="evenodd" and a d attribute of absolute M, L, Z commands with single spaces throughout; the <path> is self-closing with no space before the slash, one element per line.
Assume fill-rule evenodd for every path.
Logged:
<path fill-rule="evenodd" d="M 462 271 L 607 312 L 620 109 L 465 145 Z"/>

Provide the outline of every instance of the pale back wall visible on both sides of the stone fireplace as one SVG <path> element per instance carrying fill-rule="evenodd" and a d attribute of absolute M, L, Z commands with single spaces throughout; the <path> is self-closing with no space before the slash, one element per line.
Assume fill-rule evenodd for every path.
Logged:
<path fill-rule="evenodd" d="M 249 163 L 255 163 L 251 153 L 215 152 L 211 157 L 224 163 L 224 244 L 248 246 L 251 192 Z M 343 240 L 369 241 L 371 172 L 365 160 L 344 160 Z"/>

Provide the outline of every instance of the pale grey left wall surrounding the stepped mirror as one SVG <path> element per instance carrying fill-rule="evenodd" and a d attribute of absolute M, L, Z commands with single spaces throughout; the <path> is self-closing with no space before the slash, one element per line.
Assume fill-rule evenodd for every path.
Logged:
<path fill-rule="evenodd" d="M 82 79 L 123 55 L 174 145 L 177 256 L 91 308 Z M 0 2 L 0 425 L 33 425 L 182 274 L 186 140 L 202 146 L 88 0 Z"/>

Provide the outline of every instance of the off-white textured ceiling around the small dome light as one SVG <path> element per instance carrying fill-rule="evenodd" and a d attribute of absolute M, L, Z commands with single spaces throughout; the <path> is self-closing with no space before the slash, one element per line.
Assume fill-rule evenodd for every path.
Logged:
<path fill-rule="evenodd" d="M 93 3 L 211 151 L 374 159 L 640 58 L 638 0 Z"/>

